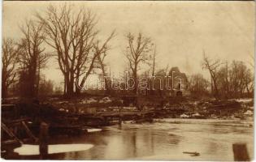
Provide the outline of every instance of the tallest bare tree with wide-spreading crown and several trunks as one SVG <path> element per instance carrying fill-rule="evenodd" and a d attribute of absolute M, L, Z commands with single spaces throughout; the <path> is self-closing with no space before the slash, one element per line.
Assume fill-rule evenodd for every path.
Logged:
<path fill-rule="evenodd" d="M 85 8 L 75 11 L 71 6 L 64 5 L 57 10 L 49 6 L 46 16 L 37 15 L 37 18 L 44 24 L 48 36 L 46 43 L 56 52 L 59 68 L 64 75 L 64 93 L 67 96 L 74 93 L 75 80 L 78 83 L 76 92 L 80 93 L 85 79 L 93 70 L 94 61 L 106 50 L 112 35 L 102 47 L 95 50 L 97 21 L 95 15 Z M 79 84 L 82 75 L 84 78 Z"/>

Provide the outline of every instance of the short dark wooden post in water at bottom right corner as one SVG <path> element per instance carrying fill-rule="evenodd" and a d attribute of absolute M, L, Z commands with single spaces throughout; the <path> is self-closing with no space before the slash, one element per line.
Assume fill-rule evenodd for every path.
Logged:
<path fill-rule="evenodd" d="M 245 143 L 233 143 L 235 161 L 249 161 L 249 155 Z"/>

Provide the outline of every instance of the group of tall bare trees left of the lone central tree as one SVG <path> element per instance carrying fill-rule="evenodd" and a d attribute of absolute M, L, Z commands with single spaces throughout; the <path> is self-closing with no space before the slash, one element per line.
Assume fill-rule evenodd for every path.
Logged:
<path fill-rule="evenodd" d="M 106 73 L 104 58 L 110 49 L 108 42 L 115 35 L 113 31 L 105 41 L 98 39 L 96 16 L 91 11 L 72 6 L 49 6 L 44 15 L 26 21 L 21 27 L 23 36 L 17 42 L 4 40 L 2 49 L 2 97 L 19 74 L 20 92 L 25 96 L 37 96 L 40 70 L 48 58 L 57 58 L 64 76 L 64 94 L 79 94 L 80 88 L 91 74 L 95 64 Z M 46 53 L 46 47 L 54 49 Z M 77 84 L 77 86 L 75 86 Z"/>

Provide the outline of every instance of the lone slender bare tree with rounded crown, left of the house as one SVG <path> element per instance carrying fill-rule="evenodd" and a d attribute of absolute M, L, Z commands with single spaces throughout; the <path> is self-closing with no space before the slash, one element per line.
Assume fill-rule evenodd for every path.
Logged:
<path fill-rule="evenodd" d="M 141 68 L 141 64 L 150 60 L 151 40 L 149 37 L 142 36 L 141 32 L 135 38 L 130 32 L 126 36 L 128 40 L 128 47 L 125 53 L 128 58 L 130 69 L 132 70 L 132 77 L 134 79 L 134 92 L 137 94 L 138 78 L 137 73 Z M 136 40 L 135 40 L 136 39 Z"/>

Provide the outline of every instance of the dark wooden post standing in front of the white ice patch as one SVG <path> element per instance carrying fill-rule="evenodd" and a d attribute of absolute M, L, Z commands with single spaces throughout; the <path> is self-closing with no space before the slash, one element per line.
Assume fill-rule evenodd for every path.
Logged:
<path fill-rule="evenodd" d="M 39 137 L 39 152 L 42 158 L 48 154 L 48 144 L 47 144 L 48 129 L 49 129 L 48 124 L 46 124 L 46 122 L 41 122 L 40 137 Z"/>

